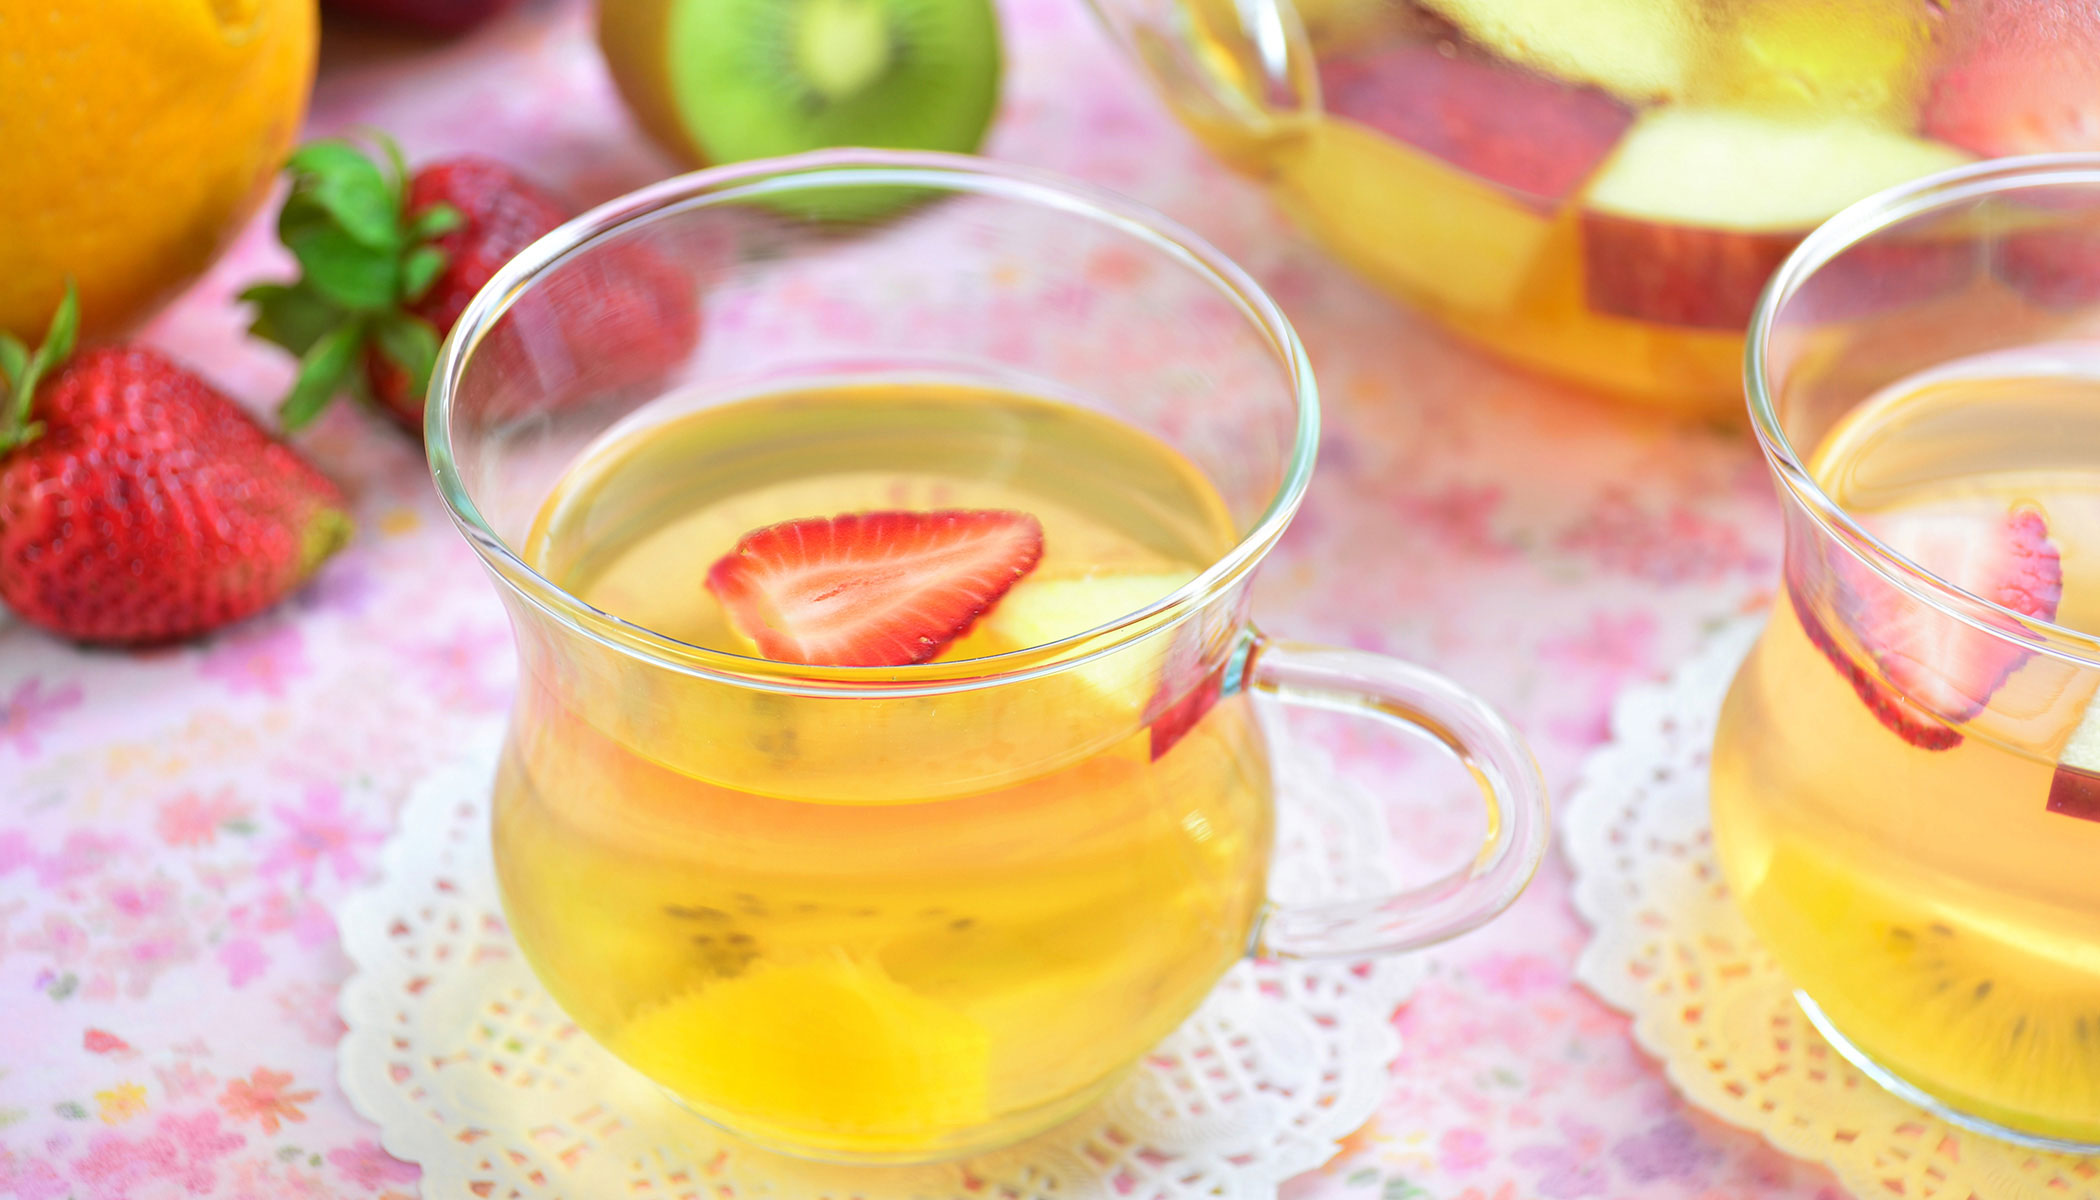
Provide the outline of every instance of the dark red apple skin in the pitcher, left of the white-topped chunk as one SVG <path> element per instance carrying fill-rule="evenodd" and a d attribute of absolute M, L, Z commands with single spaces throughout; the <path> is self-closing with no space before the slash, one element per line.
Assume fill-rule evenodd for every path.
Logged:
<path fill-rule="evenodd" d="M 1531 208 L 1554 210 L 1604 162 L 1634 109 L 1596 88 L 1546 80 L 1441 44 L 1403 42 L 1323 59 L 1334 116 L 1407 143 Z"/>

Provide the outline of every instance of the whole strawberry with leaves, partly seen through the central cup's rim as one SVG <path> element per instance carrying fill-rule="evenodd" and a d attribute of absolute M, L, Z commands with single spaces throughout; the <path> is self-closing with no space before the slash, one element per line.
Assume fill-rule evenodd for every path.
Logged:
<path fill-rule="evenodd" d="M 286 429 L 307 425 L 349 387 L 422 433 L 439 340 L 504 263 L 569 216 L 500 162 L 449 158 L 407 177 L 399 151 L 384 149 L 391 170 L 342 141 L 304 145 L 288 164 L 292 191 L 277 233 L 304 275 L 244 292 L 256 305 L 252 332 L 300 355 L 279 412 Z M 554 284 L 569 286 L 544 292 L 559 292 L 552 298 L 565 313 L 584 319 L 527 324 L 554 338 L 588 328 L 590 345 L 559 347 L 567 361 L 584 364 L 578 378 L 615 387 L 691 351 L 693 288 L 655 254 L 607 254 L 582 288 L 575 277 L 563 269 Z"/>

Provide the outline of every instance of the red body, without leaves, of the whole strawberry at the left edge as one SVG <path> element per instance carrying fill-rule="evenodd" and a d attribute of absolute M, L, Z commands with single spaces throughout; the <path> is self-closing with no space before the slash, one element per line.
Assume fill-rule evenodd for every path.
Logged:
<path fill-rule="evenodd" d="M 254 616 L 349 538 L 342 494 L 237 404 L 147 349 L 38 389 L 0 458 L 0 601 L 63 637 L 143 645 Z"/>

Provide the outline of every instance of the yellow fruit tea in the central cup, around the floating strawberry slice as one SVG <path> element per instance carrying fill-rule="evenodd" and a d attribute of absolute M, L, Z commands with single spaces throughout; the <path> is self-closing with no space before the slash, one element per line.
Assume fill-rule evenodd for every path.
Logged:
<path fill-rule="evenodd" d="M 1115 418 L 872 382 L 615 431 L 527 559 L 605 614 L 754 656 L 710 565 L 752 530 L 874 511 L 1040 521 L 1040 561 L 947 662 L 1124 618 L 1237 538 L 1184 456 Z M 496 794 L 510 925 L 578 1026 L 760 1141 L 909 1160 L 1044 1129 L 1197 1007 L 1262 902 L 1264 742 L 1216 679 L 1163 702 L 1182 645 L 808 710 L 685 677 L 594 689 L 527 647 Z"/>

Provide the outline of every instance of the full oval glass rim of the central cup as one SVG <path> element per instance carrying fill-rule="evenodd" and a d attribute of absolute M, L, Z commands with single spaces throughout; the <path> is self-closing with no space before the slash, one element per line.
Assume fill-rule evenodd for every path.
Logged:
<path fill-rule="evenodd" d="M 1151 244 L 1205 277 L 1270 340 L 1289 374 L 1296 431 L 1283 479 L 1254 525 L 1193 580 L 1102 626 L 1012 654 L 911 666 L 806 666 L 704 649 L 626 622 L 584 603 L 529 563 L 489 527 L 460 477 L 452 408 L 481 338 L 548 271 L 622 231 L 737 200 L 838 187 L 922 187 L 974 193 L 1088 216 Z M 573 633 L 620 654 L 640 656 L 685 675 L 798 696 L 937 696 L 1037 679 L 1113 654 L 1153 630 L 1178 624 L 1239 582 L 1283 536 L 1304 502 L 1319 450 L 1319 389 L 1298 332 L 1281 307 L 1224 252 L 1170 216 L 1056 172 L 976 156 L 892 149 L 821 149 L 676 174 L 613 198 L 546 233 L 468 301 L 437 355 L 424 412 L 430 477 L 454 525 L 475 553 L 525 601 Z"/>

